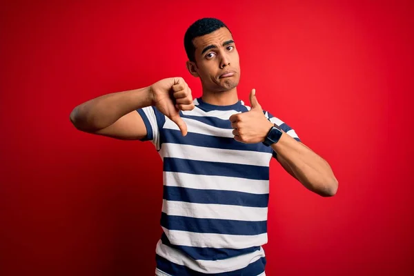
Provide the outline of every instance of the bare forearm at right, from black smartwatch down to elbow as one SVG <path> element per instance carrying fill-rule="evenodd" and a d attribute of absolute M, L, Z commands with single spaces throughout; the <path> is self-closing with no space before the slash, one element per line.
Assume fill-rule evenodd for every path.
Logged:
<path fill-rule="evenodd" d="M 273 150 L 282 157 L 295 177 L 309 190 L 324 196 L 335 195 L 337 179 L 328 162 L 304 144 L 296 141 L 285 132 Z"/>

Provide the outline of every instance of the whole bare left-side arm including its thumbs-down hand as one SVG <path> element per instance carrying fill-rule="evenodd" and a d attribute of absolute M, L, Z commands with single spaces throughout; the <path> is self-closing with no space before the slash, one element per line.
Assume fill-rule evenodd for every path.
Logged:
<path fill-rule="evenodd" d="M 187 127 L 179 117 L 179 110 L 192 110 L 194 103 L 191 90 L 181 77 L 91 99 L 72 110 L 70 121 L 84 132 L 117 139 L 142 139 L 147 134 L 146 126 L 136 110 L 147 106 L 155 106 L 186 135 Z"/>

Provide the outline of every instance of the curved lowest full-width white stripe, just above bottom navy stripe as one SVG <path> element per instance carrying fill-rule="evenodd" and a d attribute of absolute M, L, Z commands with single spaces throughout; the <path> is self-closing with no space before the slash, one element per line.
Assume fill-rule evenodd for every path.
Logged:
<path fill-rule="evenodd" d="M 260 250 L 256 250 L 252 253 L 228 259 L 217 259 L 212 261 L 204 259 L 195 260 L 175 248 L 162 244 L 161 240 L 158 241 L 156 253 L 172 263 L 186 266 L 200 273 L 223 273 L 245 268 L 249 264 L 256 262 L 258 259 L 265 256 L 264 250 L 261 247 Z"/>

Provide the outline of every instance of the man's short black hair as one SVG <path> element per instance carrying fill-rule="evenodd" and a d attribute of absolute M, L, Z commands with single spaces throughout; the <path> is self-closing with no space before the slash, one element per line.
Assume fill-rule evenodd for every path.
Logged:
<path fill-rule="evenodd" d="M 210 34 L 219 28 L 227 28 L 231 33 L 230 29 L 223 23 L 223 21 L 216 18 L 202 18 L 195 21 L 188 27 L 186 34 L 184 34 L 184 48 L 186 48 L 187 57 L 190 61 L 195 61 L 195 47 L 193 39 L 196 37 L 202 37 L 203 35 Z"/>

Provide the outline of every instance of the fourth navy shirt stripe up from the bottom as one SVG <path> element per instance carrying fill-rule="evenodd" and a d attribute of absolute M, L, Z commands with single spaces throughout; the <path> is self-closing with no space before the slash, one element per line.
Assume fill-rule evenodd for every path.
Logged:
<path fill-rule="evenodd" d="M 257 195 L 234 190 L 201 190 L 164 186 L 163 198 L 170 201 L 264 208 L 268 206 L 269 194 Z"/>

